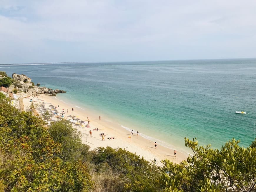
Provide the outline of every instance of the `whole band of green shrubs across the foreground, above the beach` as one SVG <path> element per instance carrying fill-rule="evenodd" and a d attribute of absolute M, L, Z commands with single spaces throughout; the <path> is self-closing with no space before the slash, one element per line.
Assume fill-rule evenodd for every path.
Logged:
<path fill-rule="evenodd" d="M 255 191 L 256 148 L 220 150 L 185 138 L 194 155 L 162 167 L 124 149 L 81 142 L 67 120 L 46 126 L 0 99 L 0 191 Z"/>

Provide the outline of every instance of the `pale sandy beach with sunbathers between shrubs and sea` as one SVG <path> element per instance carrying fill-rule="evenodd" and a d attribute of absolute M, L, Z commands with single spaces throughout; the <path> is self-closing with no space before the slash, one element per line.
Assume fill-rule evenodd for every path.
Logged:
<path fill-rule="evenodd" d="M 85 121 L 86 123 L 83 123 L 84 127 L 80 127 L 79 125 L 77 126 L 77 131 L 81 131 L 82 142 L 89 145 L 91 150 L 97 147 L 107 146 L 112 148 L 123 148 L 132 153 L 136 153 L 147 161 L 154 161 L 155 159 L 157 165 L 159 166 L 161 165 L 160 161 L 162 159 L 169 159 L 174 163 L 180 163 L 183 159 L 188 157 L 188 154 L 180 153 L 179 151 L 177 151 L 176 157 L 174 157 L 173 150 L 160 146 L 159 144 L 157 144 L 157 148 L 155 148 L 154 141 L 137 136 L 137 130 L 134 130 L 132 135 L 131 132 L 127 131 L 126 129 L 119 127 L 114 123 L 110 124 L 109 122 L 105 121 L 104 117 L 102 116 L 101 120 L 99 120 L 100 114 L 93 114 L 86 109 L 83 110 L 81 108 L 77 108 L 75 105 L 72 105 L 71 103 L 64 103 L 53 96 L 39 95 L 38 97 L 29 96 L 24 98 L 23 103 L 25 110 L 26 107 L 31 104 L 31 102 L 29 102 L 30 99 L 33 99 L 33 101 L 37 103 L 44 101 L 45 108 L 48 108 L 51 104 L 53 106 L 57 106 L 59 112 L 64 111 L 64 117 L 72 115 Z M 74 108 L 74 111 L 72 111 L 72 108 Z M 85 125 L 87 125 L 87 116 L 89 116 L 89 128 L 85 127 Z M 67 117 L 67 119 L 69 119 L 69 117 Z M 74 124 L 73 126 L 76 127 Z M 99 131 L 93 130 L 96 128 L 99 128 Z M 90 130 L 92 131 L 92 137 L 89 133 Z M 105 141 L 102 141 L 102 137 L 99 135 L 100 133 L 104 133 L 106 135 Z M 114 137 L 114 139 L 107 139 L 109 137 Z M 129 137 L 131 137 L 131 139 Z"/>

